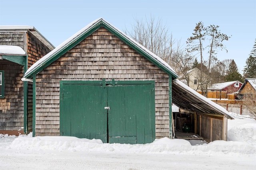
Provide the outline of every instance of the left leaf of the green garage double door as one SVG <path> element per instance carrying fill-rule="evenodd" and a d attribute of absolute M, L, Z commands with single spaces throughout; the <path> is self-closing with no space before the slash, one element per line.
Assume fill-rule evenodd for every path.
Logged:
<path fill-rule="evenodd" d="M 62 83 L 60 135 L 107 142 L 106 92 L 100 85 Z"/>

